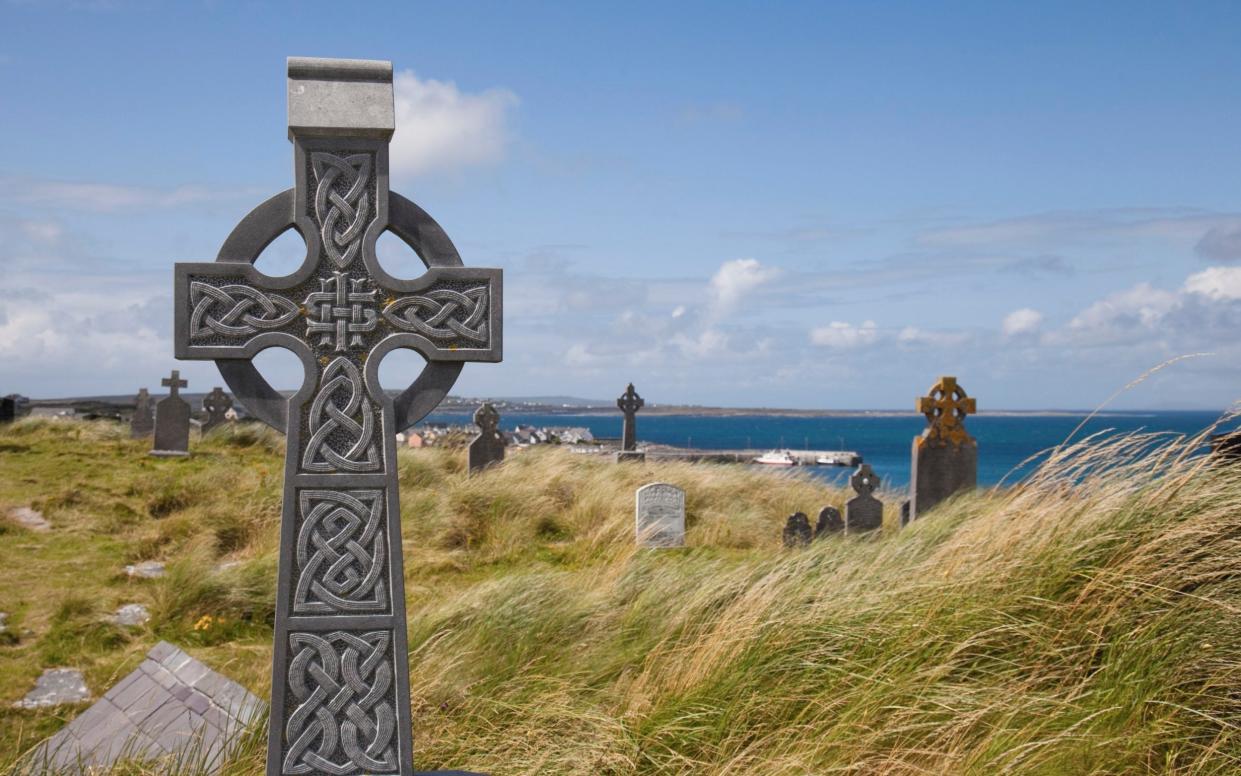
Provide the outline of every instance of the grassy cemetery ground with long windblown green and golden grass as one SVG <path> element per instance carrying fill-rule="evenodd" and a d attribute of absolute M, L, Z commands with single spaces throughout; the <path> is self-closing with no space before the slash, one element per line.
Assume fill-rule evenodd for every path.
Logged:
<path fill-rule="evenodd" d="M 283 441 L 223 427 L 156 459 L 104 422 L 0 427 L 0 772 L 158 641 L 269 690 Z M 849 494 L 737 466 L 527 449 L 469 477 L 402 449 L 414 759 L 509 774 L 1241 770 L 1241 467 L 1191 442 L 1062 451 L 900 530 L 781 546 Z M 1106 469 L 1101 469 L 1106 464 Z M 686 493 L 688 545 L 634 546 L 634 490 Z M 159 579 L 124 566 L 166 562 Z M 125 603 L 145 625 L 108 616 Z M 263 770 L 254 730 L 228 775 Z M 194 774 L 127 765 L 123 774 Z"/>

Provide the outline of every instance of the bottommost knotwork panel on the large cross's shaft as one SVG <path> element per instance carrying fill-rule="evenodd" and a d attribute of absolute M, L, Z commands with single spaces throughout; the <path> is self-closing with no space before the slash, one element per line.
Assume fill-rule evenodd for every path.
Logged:
<path fill-rule="evenodd" d="M 391 642 L 386 631 L 289 634 L 289 689 L 297 709 L 284 729 L 284 774 L 398 770 Z"/>

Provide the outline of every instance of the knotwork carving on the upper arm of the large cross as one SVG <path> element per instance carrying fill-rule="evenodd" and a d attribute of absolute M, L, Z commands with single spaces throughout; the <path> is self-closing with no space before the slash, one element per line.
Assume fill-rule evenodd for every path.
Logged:
<path fill-rule="evenodd" d="M 338 156 L 326 151 L 310 154 L 315 180 L 314 211 L 319 219 L 323 250 L 331 263 L 344 269 L 357 257 L 362 233 L 371 217 L 367 186 L 371 155 Z"/>

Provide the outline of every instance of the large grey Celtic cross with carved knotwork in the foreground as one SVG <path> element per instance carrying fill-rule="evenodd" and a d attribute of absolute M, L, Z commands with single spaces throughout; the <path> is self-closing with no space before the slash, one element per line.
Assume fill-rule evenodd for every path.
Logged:
<path fill-rule="evenodd" d="M 433 410 L 465 361 L 500 360 L 499 269 L 470 269 L 417 205 L 388 191 L 392 65 L 289 60 L 295 186 L 256 207 L 212 263 L 176 266 L 176 356 L 213 359 L 251 415 L 288 435 L 268 776 L 412 772 L 396 433 Z M 252 266 L 287 230 L 307 258 Z M 427 264 L 379 264 L 390 231 Z M 251 359 L 283 346 L 305 368 L 292 397 Z M 379 368 L 427 359 L 396 399 Z"/>

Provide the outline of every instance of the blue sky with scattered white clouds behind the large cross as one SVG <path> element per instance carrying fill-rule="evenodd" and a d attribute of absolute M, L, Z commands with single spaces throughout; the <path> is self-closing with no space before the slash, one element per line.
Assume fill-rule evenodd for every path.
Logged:
<path fill-rule="evenodd" d="M 172 262 L 292 185 L 298 55 L 393 62 L 393 189 L 505 269 L 459 394 L 1241 397 L 1241 6 L 668 5 L 0 0 L 0 392 L 158 386 Z"/>

